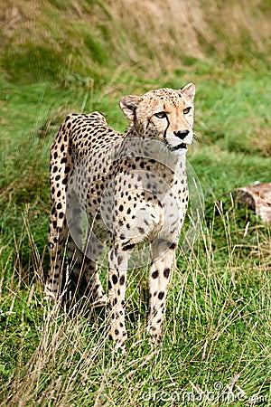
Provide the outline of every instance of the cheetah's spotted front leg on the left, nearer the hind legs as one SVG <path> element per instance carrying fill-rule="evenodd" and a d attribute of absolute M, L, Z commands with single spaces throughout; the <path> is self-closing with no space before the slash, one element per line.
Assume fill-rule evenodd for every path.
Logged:
<path fill-rule="evenodd" d="M 117 251 L 116 246 L 109 251 L 108 295 L 110 303 L 109 336 L 115 341 L 115 350 L 126 353 L 125 293 L 128 253 Z"/>

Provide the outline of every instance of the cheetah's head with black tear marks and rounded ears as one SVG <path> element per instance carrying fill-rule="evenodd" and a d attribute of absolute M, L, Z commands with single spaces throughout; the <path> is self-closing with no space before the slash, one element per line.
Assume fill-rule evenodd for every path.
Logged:
<path fill-rule="evenodd" d="M 172 151 L 186 148 L 193 139 L 195 85 L 181 90 L 158 89 L 144 96 L 124 96 L 120 108 L 134 122 L 139 137 L 163 141 Z"/>

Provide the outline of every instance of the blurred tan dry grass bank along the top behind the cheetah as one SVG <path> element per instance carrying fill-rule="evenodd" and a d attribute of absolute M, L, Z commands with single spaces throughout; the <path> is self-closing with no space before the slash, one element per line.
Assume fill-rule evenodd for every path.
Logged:
<path fill-rule="evenodd" d="M 121 63 L 154 77 L 179 69 L 187 57 L 239 63 L 249 52 L 270 52 L 271 7 L 265 0 L 2 3 L 1 66 L 17 80 L 15 63 L 34 71 L 35 80 L 42 73 L 45 78 L 45 73 L 59 78 L 63 69 L 91 74 L 98 66 L 100 71 Z"/>

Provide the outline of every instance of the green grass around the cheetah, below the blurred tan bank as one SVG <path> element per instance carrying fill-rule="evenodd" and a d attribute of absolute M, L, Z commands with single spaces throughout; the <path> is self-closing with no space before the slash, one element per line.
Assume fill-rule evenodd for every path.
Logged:
<path fill-rule="evenodd" d="M 7 112 L 1 134 L 2 405 L 171 406 L 174 400 L 179 400 L 178 405 L 210 405 L 208 392 L 220 397 L 220 405 L 228 405 L 233 397 L 229 389 L 238 398 L 234 405 L 248 405 L 255 394 L 257 405 L 267 405 L 270 230 L 253 213 L 232 204 L 229 195 L 240 185 L 270 182 L 270 158 L 257 144 L 248 148 L 248 132 L 244 131 L 243 147 L 238 141 L 236 148 L 234 144 L 229 148 L 235 120 L 237 134 L 254 125 L 254 114 L 249 116 L 247 108 L 239 110 L 237 105 L 257 106 L 254 113 L 259 123 L 268 118 L 266 88 L 258 86 L 259 81 L 267 86 L 267 76 L 258 80 L 253 72 L 244 78 L 238 73 L 234 89 L 241 101 L 233 98 L 227 76 L 225 71 L 224 83 L 214 92 L 204 75 L 193 79 L 198 82 L 195 131 L 201 138 L 189 161 L 204 191 L 205 221 L 194 250 L 178 258 L 164 344 L 152 350 L 147 343 L 145 289 L 139 289 L 134 271 L 127 289 L 128 353 L 117 360 L 105 339 L 103 310 L 93 311 L 83 299 L 66 311 L 57 305 L 51 309 L 42 300 L 42 285 L 48 270 L 51 140 L 68 111 L 89 111 L 90 106 L 103 111 L 113 127 L 123 129 L 126 120 L 117 109 L 120 95 L 107 83 L 103 97 L 89 85 L 63 89 L 44 82 L 27 86 L 25 95 L 24 86 L 5 83 L 1 105 Z M 158 81 L 161 86 L 178 85 L 173 77 Z M 257 93 L 246 93 L 248 82 Z M 126 93 L 138 93 L 154 85 L 134 78 L 132 85 L 119 81 L 118 86 L 122 94 L 125 88 Z M 229 119 L 224 109 L 233 112 Z M 209 132 L 209 127 L 214 130 Z M 102 274 L 106 280 L 106 270 Z M 145 279 L 142 286 L 146 288 Z"/>

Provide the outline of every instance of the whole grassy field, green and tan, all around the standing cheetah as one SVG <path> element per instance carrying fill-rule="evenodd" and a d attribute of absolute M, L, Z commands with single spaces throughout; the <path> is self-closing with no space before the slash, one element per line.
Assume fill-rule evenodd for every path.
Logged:
<path fill-rule="evenodd" d="M 241 185 L 271 182 L 268 2 L 259 2 L 255 21 L 253 2 L 248 2 L 251 9 L 235 23 L 229 41 L 223 33 L 227 25 L 215 20 L 222 5 L 207 2 L 214 14 L 209 21 L 202 6 L 204 18 L 198 18 L 201 33 L 210 24 L 210 38 L 204 45 L 194 39 L 191 55 L 182 58 L 170 43 L 171 36 L 180 36 L 177 28 L 162 48 L 156 41 L 152 48 L 145 37 L 136 53 L 136 18 L 130 22 L 133 33 L 123 40 L 129 14 L 124 7 L 125 24 L 119 27 L 119 2 L 110 8 L 102 2 L 51 1 L 33 8 L 33 25 L 23 14 L 26 5 L 16 1 L 12 12 L 9 3 L 5 15 L 15 23 L 8 31 L 11 17 L 0 20 L 5 21 L 0 45 L 0 405 L 271 405 L 270 226 L 238 207 L 230 194 Z M 236 3 L 242 9 L 243 3 Z M 257 29 L 243 33 L 246 21 L 255 27 L 261 22 L 263 37 Z M 67 59 L 56 45 L 63 35 Z M 82 35 L 84 50 L 92 52 L 86 60 L 79 52 Z M 234 35 L 240 35 L 238 41 Z M 163 62 L 155 53 L 166 41 Z M 179 252 L 160 347 L 151 349 L 145 337 L 147 270 L 129 273 L 127 355 L 117 358 L 106 338 L 104 309 L 93 310 L 84 298 L 64 308 L 43 300 L 49 267 L 49 148 L 70 111 L 97 109 L 122 131 L 127 124 L 117 108 L 122 95 L 178 88 L 188 81 L 197 88 L 198 142 L 188 161 L 204 193 L 201 233 L 192 251 Z M 101 270 L 105 285 L 106 273 Z"/>

